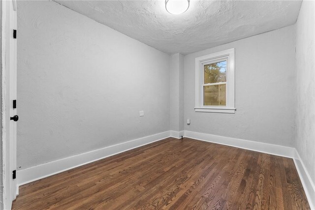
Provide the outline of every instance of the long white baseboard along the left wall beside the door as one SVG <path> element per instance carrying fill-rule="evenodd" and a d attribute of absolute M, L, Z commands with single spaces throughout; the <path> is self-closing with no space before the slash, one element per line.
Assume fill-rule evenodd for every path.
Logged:
<path fill-rule="evenodd" d="M 18 170 L 16 172 L 17 185 L 19 187 L 23 184 L 35 180 L 40 180 L 42 178 L 49 177 L 54 174 L 58 174 L 63 171 L 76 168 L 78 166 L 82 166 L 127 150 L 132 150 L 134 148 L 141 147 L 168 137 L 170 137 L 170 131 L 146 136 L 139 139 L 134 139 L 128 142 L 120 143 L 98 150 L 88 151 L 86 153 L 77 154 L 60 160 L 44 163 L 38 166 L 33 166 L 31 168 Z"/>

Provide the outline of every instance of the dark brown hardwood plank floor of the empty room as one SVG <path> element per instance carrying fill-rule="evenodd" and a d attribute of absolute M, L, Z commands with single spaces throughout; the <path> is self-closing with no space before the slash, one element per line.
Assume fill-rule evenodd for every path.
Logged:
<path fill-rule="evenodd" d="M 310 207 L 290 158 L 168 138 L 25 184 L 13 209 Z"/>

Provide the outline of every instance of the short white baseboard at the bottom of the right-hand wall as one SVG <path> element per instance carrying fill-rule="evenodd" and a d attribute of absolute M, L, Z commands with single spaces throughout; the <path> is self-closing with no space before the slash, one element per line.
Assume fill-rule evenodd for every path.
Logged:
<path fill-rule="evenodd" d="M 298 151 L 295 150 L 295 157 L 293 158 L 296 170 L 299 174 L 300 180 L 302 182 L 306 197 L 309 201 L 311 210 L 315 210 L 315 185 L 311 179 L 308 170 L 306 169 Z"/>

